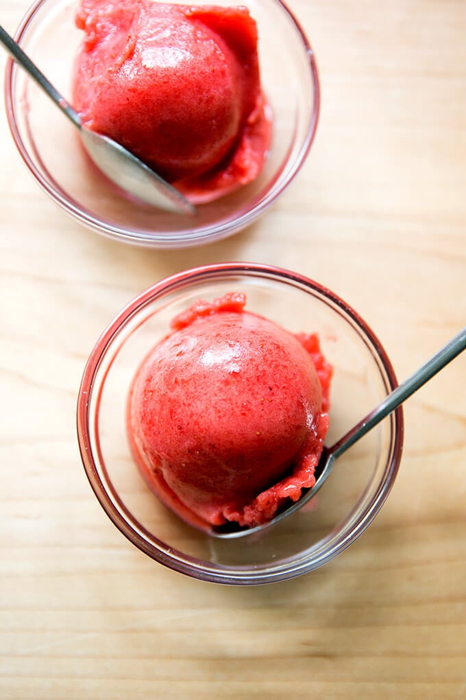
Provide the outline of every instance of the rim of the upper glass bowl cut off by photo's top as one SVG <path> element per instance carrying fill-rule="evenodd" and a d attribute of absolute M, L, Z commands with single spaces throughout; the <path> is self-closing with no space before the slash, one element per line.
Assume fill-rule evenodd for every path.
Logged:
<path fill-rule="evenodd" d="M 27 10 L 14 34 L 14 38 L 17 43 L 21 44 L 21 40 L 29 25 L 41 11 L 43 6 L 45 6 L 49 1 L 50 0 L 35 0 L 29 10 Z M 289 17 L 289 20 L 291 20 L 291 23 L 294 25 L 298 36 L 303 43 L 303 49 L 307 54 L 308 66 L 310 69 L 310 80 L 312 80 L 312 85 L 314 87 L 314 104 L 312 113 L 309 116 L 305 139 L 303 140 L 303 144 L 300 146 L 296 160 L 294 160 L 293 164 L 288 168 L 286 177 L 283 179 L 282 183 L 280 183 L 277 189 L 275 189 L 275 184 L 277 183 L 279 177 L 276 175 L 270 181 L 268 189 L 265 191 L 265 193 L 263 190 L 261 190 L 261 193 L 256 195 L 250 209 L 248 208 L 246 211 L 244 211 L 244 209 L 240 208 L 239 216 L 221 221 L 220 224 L 203 225 L 201 228 L 193 228 L 187 225 L 187 227 L 180 229 L 180 231 L 175 233 L 163 231 L 162 229 L 154 229 L 150 232 L 136 228 L 129 230 L 129 228 L 124 228 L 105 222 L 103 219 L 94 216 L 91 211 L 80 207 L 78 202 L 73 200 L 71 195 L 65 193 L 65 191 L 59 186 L 59 183 L 54 183 L 53 181 L 50 182 L 43 175 L 40 169 L 36 167 L 34 160 L 29 154 L 29 148 L 27 148 L 27 145 L 22 139 L 16 118 L 17 108 L 15 106 L 15 100 L 13 99 L 13 83 L 15 80 L 15 74 L 16 71 L 20 71 L 21 69 L 11 57 L 8 57 L 6 59 L 5 80 L 3 86 L 3 97 L 6 106 L 8 127 L 13 137 L 13 141 L 15 142 L 17 151 L 20 153 L 20 156 L 29 169 L 29 172 L 31 172 L 38 182 L 38 185 L 41 186 L 43 191 L 49 197 L 51 197 L 55 204 L 61 207 L 66 214 L 74 218 L 75 221 L 78 221 L 82 225 L 85 225 L 87 228 L 90 228 L 101 235 L 132 245 L 150 248 L 180 248 L 181 246 L 190 247 L 205 244 L 207 241 L 210 242 L 224 239 L 244 228 L 247 228 L 249 225 L 252 225 L 252 223 L 262 216 L 262 214 L 275 203 L 278 197 L 284 193 L 293 179 L 295 179 L 300 169 L 303 167 L 307 155 L 310 152 L 312 143 L 314 142 L 321 111 L 321 87 L 314 50 L 312 49 L 310 41 L 307 38 L 302 25 L 286 2 L 284 0 L 273 1 L 279 7 L 281 7 L 284 13 Z M 286 165 L 289 165 L 288 161 L 286 161 Z"/>

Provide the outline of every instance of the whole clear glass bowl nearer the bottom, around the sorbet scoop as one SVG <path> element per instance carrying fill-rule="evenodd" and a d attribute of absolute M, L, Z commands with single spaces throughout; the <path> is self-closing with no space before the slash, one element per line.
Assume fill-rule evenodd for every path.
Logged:
<path fill-rule="evenodd" d="M 103 509 L 126 537 L 165 566 L 224 584 L 296 577 L 346 549 L 379 512 L 402 453 L 402 410 L 388 416 L 342 455 L 310 503 L 278 524 L 238 540 L 197 531 L 152 493 L 133 462 L 126 436 L 126 398 L 136 368 L 168 331 L 170 320 L 198 299 L 244 292 L 246 308 L 292 332 L 318 332 L 334 368 L 330 388 L 333 444 L 377 405 L 397 381 L 367 324 L 337 295 L 276 267 L 226 263 L 160 281 L 133 300 L 92 351 L 78 398 L 78 441 L 87 477 Z"/>

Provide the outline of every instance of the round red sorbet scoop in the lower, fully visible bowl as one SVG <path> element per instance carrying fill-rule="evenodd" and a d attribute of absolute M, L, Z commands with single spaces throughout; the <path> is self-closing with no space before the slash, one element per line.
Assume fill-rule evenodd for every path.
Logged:
<path fill-rule="evenodd" d="M 136 463 L 191 524 L 262 524 L 314 486 L 331 373 L 316 335 L 245 311 L 245 295 L 197 302 L 133 379 Z"/>

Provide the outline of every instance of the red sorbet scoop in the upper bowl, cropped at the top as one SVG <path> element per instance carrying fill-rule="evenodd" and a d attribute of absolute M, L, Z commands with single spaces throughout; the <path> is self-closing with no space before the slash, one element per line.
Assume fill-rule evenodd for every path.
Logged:
<path fill-rule="evenodd" d="M 76 24 L 73 99 L 87 127 L 197 204 L 258 176 L 271 119 L 247 8 L 82 0 Z"/>

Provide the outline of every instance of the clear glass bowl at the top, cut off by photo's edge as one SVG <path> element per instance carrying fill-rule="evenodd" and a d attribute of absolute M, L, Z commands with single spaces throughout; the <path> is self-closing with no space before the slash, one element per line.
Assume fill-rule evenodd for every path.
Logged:
<path fill-rule="evenodd" d="M 303 165 L 319 117 L 319 78 L 303 30 L 280 0 L 216 0 L 215 4 L 247 6 L 257 22 L 261 79 L 273 112 L 273 135 L 259 178 L 216 202 L 200 205 L 196 218 L 122 196 L 89 162 L 75 127 L 8 59 L 6 112 L 20 155 L 43 190 L 80 223 L 140 246 L 203 244 L 256 221 Z M 77 7 L 77 0 L 36 0 L 15 34 L 65 98 L 71 96 L 71 70 L 83 36 L 74 25 Z"/>

